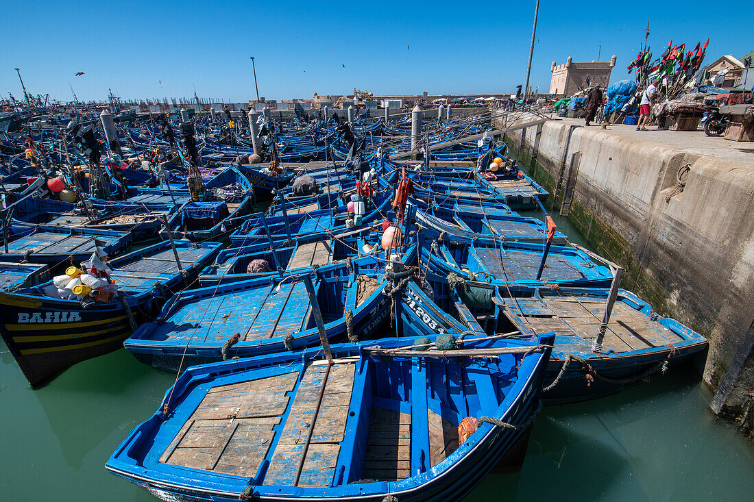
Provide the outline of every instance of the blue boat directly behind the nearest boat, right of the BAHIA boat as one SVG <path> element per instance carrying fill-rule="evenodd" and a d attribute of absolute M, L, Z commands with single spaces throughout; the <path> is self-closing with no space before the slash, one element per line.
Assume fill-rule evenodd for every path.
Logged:
<path fill-rule="evenodd" d="M 400 258 L 415 259 L 415 246 Z M 383 276 L 385 260 L 365 256 L 323 265 L 314 274 L 317 305 L 333 341 L 363 340 L 382 333 L 391 306 Z M 296 350 L 319 340 L 311 298 L 300 274 L 256 277 L 179 292 L 158 318 L 124 342 L 136 359 L 176 372 L 186 366 L 227 357 L 250 357 Z"/>

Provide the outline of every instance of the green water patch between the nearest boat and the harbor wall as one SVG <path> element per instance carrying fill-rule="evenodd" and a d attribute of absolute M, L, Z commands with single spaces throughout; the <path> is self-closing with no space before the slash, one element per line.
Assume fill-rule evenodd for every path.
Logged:
<path fill-rule="evenodd" d="M 710 398 L 686 366 L 614 396 L 547 407 L 520 473 L 491 474 L 466 500 L 503 500 L 501 491 L 504 500 L 750 500 L 754 447 L 713 417 Z"/>

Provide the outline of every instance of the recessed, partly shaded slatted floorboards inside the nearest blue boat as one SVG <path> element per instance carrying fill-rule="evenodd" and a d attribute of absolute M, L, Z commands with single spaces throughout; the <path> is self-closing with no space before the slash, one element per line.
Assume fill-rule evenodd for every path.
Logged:
<path fill-rule="evenodd" d="M 372 406 L 363 479 L 397 481 L 411 470 L 411 414 Z"/>

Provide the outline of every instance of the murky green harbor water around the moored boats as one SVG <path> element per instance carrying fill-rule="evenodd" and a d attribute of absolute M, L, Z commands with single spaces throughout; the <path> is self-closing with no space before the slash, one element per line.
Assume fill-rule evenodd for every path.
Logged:
<path fill-rule="evenodd" d="M 581 243 L 567 221 L 556 223 Z M 32 390 L 2 342 L 0 356 L 0 500 L 156 500 L 104 464 L 175 375 L 121 349 Z M 523 469 L 489 474 L 466 500 L 752 500 L 754 446 L 714 417 L 711 398 L 685 367 L 614 396 L 547 407 Z"/>

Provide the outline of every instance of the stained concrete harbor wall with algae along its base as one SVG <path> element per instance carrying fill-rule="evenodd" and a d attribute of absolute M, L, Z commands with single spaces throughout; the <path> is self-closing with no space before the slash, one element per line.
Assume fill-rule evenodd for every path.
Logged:
<path fill-rule="evenodd" d="M 524 169 L 556 196 L 550 198 L 554 213 L 570 179 L 569 220 L 592 249 L 625 268 L 624 288 L 709 338 L 703 378 L 715 388 L 725 380 L 727 387 L 716 396 L 722 405 L 713 409 L 750 428 L 754 159 L 746 163 L 722 150 L 705 155 L 653 142 L 651 133 L 643 137 L 548 121 L 512 131 L 505 140 Z M 572 166 L 575 152 L 581 160 L 577 155 Z M 676 193 L 677 173 L 687 164 L 685 187 Z"/>

